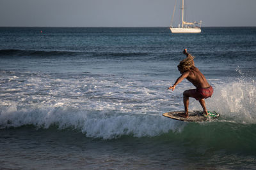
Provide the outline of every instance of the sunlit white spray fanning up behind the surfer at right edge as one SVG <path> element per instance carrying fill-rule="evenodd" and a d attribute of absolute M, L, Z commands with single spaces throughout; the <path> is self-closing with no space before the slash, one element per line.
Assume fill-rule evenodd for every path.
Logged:
<path fill-rule="evenodd" d="M 221 85 L 216 88 L 219 97 L 215 103 L 227 117 L 233 117 L 238 122 L 256 123 L 255 87 L 254 80 L 237 80 Z"/>

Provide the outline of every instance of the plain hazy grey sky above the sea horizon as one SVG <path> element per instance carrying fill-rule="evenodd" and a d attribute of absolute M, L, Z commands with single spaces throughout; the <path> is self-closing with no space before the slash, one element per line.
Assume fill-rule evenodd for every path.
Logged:
<path fill-rule="evenodd" d="M 0 27 L 168 27 L 175 1 L 0 0 Z M 203 27 L 256 26 L 256 0 L 185 0 L 185 8 Z"/>

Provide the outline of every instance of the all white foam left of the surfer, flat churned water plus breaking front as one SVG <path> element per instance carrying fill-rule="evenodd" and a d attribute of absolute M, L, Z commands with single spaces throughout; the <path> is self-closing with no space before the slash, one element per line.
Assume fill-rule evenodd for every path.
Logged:
<path fill-rule="evenodd" d="M 0 103 L 1 128 L 58 125 L 60 129 L 73 127 L 88 137 L 112 139 L 122 135 L 157 136 L 181 131 L 184 126 L 161 116 L 170 108 L 169 99 L 177 103 L 166 90 L 166 81 L 109 76 L 61 79 L 47 74 L 19 78 L 25 81 L 4 84 L 13 90 L 12 96 L 2 97 Z"/>

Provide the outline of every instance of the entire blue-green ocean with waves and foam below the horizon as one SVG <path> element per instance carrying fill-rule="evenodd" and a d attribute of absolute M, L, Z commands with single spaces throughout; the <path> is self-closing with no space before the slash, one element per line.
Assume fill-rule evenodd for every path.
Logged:
<path fill-rule="evenodd" d="M 184 48 L 216 120 L 162 116 Z M 255 56 L 256 27 L 0 27 L 0 169 L 255 169 Z"/>

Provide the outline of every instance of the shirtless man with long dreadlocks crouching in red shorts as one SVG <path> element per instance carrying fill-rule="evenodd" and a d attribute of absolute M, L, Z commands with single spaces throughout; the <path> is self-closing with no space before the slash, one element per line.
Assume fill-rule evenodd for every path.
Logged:
<path fill-rule="evenodd" d="M 184 49 L 183 53 L 187 56 L 187 58 L 180 61 L 180 64 L 178 65 L 181 76 L 177 78 L 175 83 L 168 89 L 174 90 L 176 85 L 179 84 L 184 78 L 186 78 L 196 87 L 196 89 L 186 90 L 183 93 L 185 113 L 179 114 L 180 117 L 188 118 L 189 97 L 193 97 L 199 101 L 202 108 L 204 109 L 204 117 L 208 117 L 204 99 L 212 96 L 213 89 L 207 82 L 204 74 L 202 74 L 199 69 L 195 67 L 193 60 L 194 57 L 187 52 L 187 49 Z"/>

